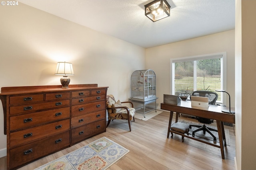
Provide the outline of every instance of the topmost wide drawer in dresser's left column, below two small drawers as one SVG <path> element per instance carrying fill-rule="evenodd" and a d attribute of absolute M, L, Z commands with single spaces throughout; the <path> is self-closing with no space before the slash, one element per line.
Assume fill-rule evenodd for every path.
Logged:
<path fill-rule="evenodd" d="M 11 106 L 10 107 L 10 115 L 16 113 L 27 113 L 42 109 L 50 109 L 54 107 L 67 107 L 70 106 L 70 100 L 60 100 L 54 102 L 44 102 L 44 103 L 36 103 L 29 105 L 20 105 L 20 106 Z"/>

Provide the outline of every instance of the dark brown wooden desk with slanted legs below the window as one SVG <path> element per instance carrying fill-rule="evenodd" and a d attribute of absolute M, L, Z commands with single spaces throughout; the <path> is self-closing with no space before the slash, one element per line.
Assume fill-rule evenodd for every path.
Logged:
<path fill-rule="evenodd" d="M 171 104 L 161 103 L 161 109 L 170 111 L 170 119 L 169 119 L 167 138 L 169 138 L 169 135 L 171 132 L 173 112 L 176 112 L 176 122 L 178 122 L 178 113 L 184 113 L 184 114 L 188 114 L 188 115 L 194 115 L 194 116 L 198 116 L 198 117 L 204 117 L 204 118 L 216 120 L 220 145 L 218 145 L 218 143 L 214 143 L 213 141 L 209 142 L 209 141 L 197 138 L 196 136 L 192 137 L 192 135 L 188 136 L 186 134 L 178 133 L 175 131 L 172 131 L 172 132 L 182 135 L 182 136 L 185 136 L 185 137 L 188 137 L 190 139 L 194 139 L 196 141 L 200 141 L 200 142 L 206 143 L 208 145 L 212 145 L 214 147 L 220 148 L 222 159 L 225 159 L 224 145 L 226 147 L 226 137 L 225 137 L 225 133 L 224 133 L 223 122 L 235 123 L 235 115 L 230 114 L 230 113 L 223 113 L 221 111 L 223 109 L 223 106 L 210 105 L 208 108 L 194 107 L 194 106 L 191 106 L 191 102 L 188 102 L 188 101 L 187 102 L 181 101 L 180 105 L 171 105 Z"/>

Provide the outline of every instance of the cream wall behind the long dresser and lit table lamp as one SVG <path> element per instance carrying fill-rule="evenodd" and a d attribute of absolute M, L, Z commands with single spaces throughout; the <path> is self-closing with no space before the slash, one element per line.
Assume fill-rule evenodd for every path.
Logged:
<path fill-rule="evenodd" d="M 0 88 L 60 85 L 56 64 L 73 64 L 70 84 L 108 86 L 121 101 L 130 97 L 130 76 L 145 68 L 145 49 L 30 6 L 1 6 Z M 0 157 L 6 155 L 0 104 Z"/>

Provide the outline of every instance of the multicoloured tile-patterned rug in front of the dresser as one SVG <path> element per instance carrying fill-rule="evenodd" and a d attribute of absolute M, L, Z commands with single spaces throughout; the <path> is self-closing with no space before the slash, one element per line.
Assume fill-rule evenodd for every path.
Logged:
<path fill-rule="evenodd" d="M 124 147 L 102 137 L 35 170 L 105 170 L 128 152 Z"/>

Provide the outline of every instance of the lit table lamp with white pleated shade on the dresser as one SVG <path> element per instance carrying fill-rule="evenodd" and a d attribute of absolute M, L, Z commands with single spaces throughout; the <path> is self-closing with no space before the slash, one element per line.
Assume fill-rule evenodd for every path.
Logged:
<path fill-rule="evenodd" d="M 55 70 L 55 75 L 63 75 L 60 78 L 60 83 L 62 84 L 62 88 L 68 88 L 68 84 L 70 83 L 69 75 L 74 75 L 72 63 L 58 62 Z"/>

